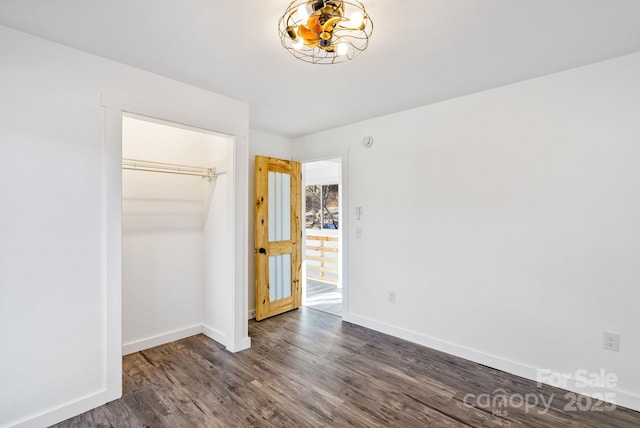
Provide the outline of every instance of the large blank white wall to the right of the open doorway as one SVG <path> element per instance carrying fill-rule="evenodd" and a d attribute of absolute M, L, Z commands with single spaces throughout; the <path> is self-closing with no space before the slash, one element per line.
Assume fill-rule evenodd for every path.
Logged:
<path fill-rule="evenodd" d="M 345 320 L 640 410 L 638 118 L 640 53 L 294 141 L 350 151 Z"/>

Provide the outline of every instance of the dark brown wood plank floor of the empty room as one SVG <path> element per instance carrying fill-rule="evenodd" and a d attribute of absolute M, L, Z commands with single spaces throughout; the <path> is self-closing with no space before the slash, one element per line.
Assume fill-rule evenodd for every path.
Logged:
<path fill-rule="evenodd" d="M 198 335 L 128 355 L 123 397 L 56 427 L 640 426 L 638 412 L 566 411 L 566 391 L 314 309 L 249 333 L 237 354 Z"/>

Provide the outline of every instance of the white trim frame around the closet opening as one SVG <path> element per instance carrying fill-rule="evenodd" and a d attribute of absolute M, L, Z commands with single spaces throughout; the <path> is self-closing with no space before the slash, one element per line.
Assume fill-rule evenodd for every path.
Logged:
<path fill-rule="evenodd" d="M 105 316 L 105 402 L 122 396 L 122 115 L 132 113 L 229 135 L 233 162 L 227 173 L 230 182 L 230 227 L 233 242 L 234 281 L 230 294 L 231 312 L 226 320 L 224 337 L 214 338 L 231 352 L 251 346 L 248 335 L 248 129 L 219 122 L 201 111 L 178 111 L 142 101 L 103 93 L 105 109 L 105 162 L 103 164 L 103 289 L 106 296 Z M 204 332 L 206 333 L 206 332 Z"/>

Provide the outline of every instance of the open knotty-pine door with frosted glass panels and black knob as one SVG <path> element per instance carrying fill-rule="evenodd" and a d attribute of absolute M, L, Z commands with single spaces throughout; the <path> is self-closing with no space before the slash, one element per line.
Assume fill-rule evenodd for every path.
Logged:
<path fill-rule="evenodd" d="M 302 169 L 256 156 L 256 320 L 300 307 Z"/>

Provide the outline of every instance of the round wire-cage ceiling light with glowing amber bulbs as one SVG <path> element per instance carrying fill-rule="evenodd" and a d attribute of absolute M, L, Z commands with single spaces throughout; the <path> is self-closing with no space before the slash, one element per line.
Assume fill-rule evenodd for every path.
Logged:
<path fill-rule="evenodd" d="M 357 0 L 294 0 L 280 17 L 278 32 L 282 46 L 296 58 L 337 64 L 367 48 L 373 21 Z"/>

